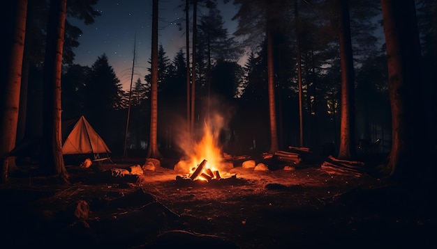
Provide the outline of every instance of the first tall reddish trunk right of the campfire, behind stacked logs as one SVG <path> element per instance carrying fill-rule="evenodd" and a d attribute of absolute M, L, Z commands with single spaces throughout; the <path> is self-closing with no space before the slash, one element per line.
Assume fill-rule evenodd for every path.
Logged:
<path fill-rule="evenodd" d="M 274 67 L 272 31 L 267 28 L 267 81 L 269 88 L 269 117 L 270 117 L 270 153 L 279 150 L 276 130 L 276 106 L 274 104 Z"/>

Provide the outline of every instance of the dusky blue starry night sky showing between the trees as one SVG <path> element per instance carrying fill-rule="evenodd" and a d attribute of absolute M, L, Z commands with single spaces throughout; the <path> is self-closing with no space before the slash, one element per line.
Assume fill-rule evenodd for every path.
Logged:
<path fill-rule="evenodd" d="M 173 60 L 179 49 L 186 52 L 185 31 L 179 31 L 177 26 L 177 22 L 182 22 L 185 27 L 183 8 L 178 7 L 182 3 L 183 1 L 159 1 L 158 44 L 163 45 L 170 60 Z M 218 1 L 218 3 L 225 22 L 223 27 L 228 29 L 228 34 L 231 35 L 235 31 L 235 22 L 230 19 L 237 11 L 236 7 L 232 2 L 223 4 L 222 1 Z M 131 83 L 136 33 L 133 82 L 140 78 L 144 83 L 144 77 L 148 74 L 147 68 L 150 67 L 148 61 L 151 52 L 152 1 L 101 0 L 95 9 L 101 13 L 101 16 L 96 17 L 94 24 L 86 26 L 75 19 L 68 19 L 83 32 L 79 38 L 80 46 L 73 50 L 76 54 L 74 63 L 91 66 L 98 56 L 106 54 L 108 62 L 123 84 L 123 89 L 128 90 Z M 207 14 L 207 11 L 198 9 L 198 20 L 204 13 Z"/>

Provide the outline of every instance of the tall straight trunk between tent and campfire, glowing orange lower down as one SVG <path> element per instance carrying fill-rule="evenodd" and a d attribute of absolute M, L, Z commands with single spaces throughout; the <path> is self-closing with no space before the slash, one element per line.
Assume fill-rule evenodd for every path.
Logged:
<path fill-rule="evenodd" d="M 147 157 L 161 159 L 158 151 L 158 0 L 153 1 L 151 24 L 151 118 Z"/>

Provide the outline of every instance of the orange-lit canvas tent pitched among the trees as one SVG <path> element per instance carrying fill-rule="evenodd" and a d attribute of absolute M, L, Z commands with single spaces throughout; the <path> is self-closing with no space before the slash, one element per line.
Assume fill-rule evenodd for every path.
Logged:
<path fill-rule="evenodd" d="M 105 159 L 109 159 L 111 151 L 108 145 L 83 115 L 78 119 L 65 121 L 62 134 L 65 136 L 62 139 L 62 154 L 93 154 L 95 161 L 102 159 L 100 154 L 105 154 Z"/>

